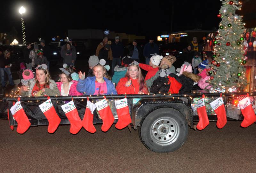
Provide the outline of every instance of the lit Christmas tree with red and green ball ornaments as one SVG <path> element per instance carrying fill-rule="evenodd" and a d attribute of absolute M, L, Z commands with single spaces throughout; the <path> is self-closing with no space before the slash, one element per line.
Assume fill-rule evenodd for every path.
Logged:
<path fill-rule="evenodd" d="M 237 92 L 242 91 L 246 86 L 243 43 L 244 25 L 242 16 L 236 15 L 236 10 L 240 10 L 242 5 L 238 0 L 220 0 L 221 17 L 220 28 L 217 31 L 215 48 L 213 51 L 212 75 L 210 84 L 214 89 L 237 88 Z"/>

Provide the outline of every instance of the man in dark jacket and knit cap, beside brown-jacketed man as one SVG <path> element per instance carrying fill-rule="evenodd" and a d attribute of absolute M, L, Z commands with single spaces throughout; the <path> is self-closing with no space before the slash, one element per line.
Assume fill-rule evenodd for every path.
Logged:
<path fill-rule="evenodd" d="M 115 42 L 111 44 L 111 50 L 113 54 L 112 60 L 112 76 L 114 75 L 114 68 L 116 65 L 121 65 L 121 60 L 124 55 L 124 45 L 120 42 L 120 37 L 116 35 Z"/>

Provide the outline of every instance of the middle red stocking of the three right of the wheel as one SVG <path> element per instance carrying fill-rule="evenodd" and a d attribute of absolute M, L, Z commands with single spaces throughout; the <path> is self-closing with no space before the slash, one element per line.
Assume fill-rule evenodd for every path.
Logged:
<path fill-rule="evenodd" d="M 219 129 L 223 128 L 227 123 L 227 115 L 226 115 L 224 102 L 221 98 L 221 93 L 220 93 L 220 98 L 214 100 L 212 103 L 210 103 L 210 105 L 214 110 L 214 112 L 217 114 L 218 120 L 217 120 L 216 126 Z"/>

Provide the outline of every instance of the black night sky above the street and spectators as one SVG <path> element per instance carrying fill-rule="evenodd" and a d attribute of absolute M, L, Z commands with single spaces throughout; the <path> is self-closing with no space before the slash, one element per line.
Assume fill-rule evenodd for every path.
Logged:
<path fill-rule="evenodd" d="M 81 2 L 85 2 L 82 5 Z M 95 2 L 95 3 L 94 3 Z M 26 38 L 34 42 L 44 38 L 47 42 L 68 29 L 108 29 L 144 36 L 160 35 L 171 30 L 172 4 L 174 5 L 172 31 L 218 28 L 221 3 L 219 0 L 179 1 L 4 1 L 1 3 L 0 32 L 15 27 L 21 37 L 19 8 L 24 6 Z"/>

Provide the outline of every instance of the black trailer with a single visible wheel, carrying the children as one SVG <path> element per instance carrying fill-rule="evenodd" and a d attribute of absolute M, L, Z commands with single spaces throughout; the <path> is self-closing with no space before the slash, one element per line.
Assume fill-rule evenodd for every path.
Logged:
<path fill-rule="evenodd" d="M 250 96 L 255 96 L 256 92 L 249 93 Z M 220 93 L 204 93 L 207 98 L 219 98 Z M 224 104 L 226 105 L 226 112 L 234 115 L 233 119 L 227 120 L 242 120 L 243 116 L 237 111 L 235 107 L 232 111 L 232 106 L 229 104 L 230 99 L 235 96 L 246 95 L 246 93 L 222 93 Z M 103 96 L 88 96 L 90 101 L 96 102 L 96 100 L 103 99 Z M 125 95 L 106 95 L 107 100 L 122 99 Z M 196 111 L 191 108 L 193 105 L 193 98 L 202 97 L 201 92 L 188 93 L 188 94 L 172 94 L 172 95 L 160 95 L 160 94 L 141 94 L 141 95 L 126 95 L 128 100 L 129 111 L 132 119 L 132 123 L 128 125 L 131 130 L 139 130 L 140 140 L 149 150 L 158 153 L 172 152 L 180 148 L 187 139 L 188 128 L 196 130 L 194 122 L 198 121 Z M 83 119 L 84 110 L 86 107 L 87 96 L 58 96 L 51 97 L 53 106 L 57 114 L 61 118 L 60 124 L 69 124 L 68 119 L 62 115 L 60 111 L 60 103 L 62 101 L 73 99 L 78 110 L 79 116 Z M 8 97 L 3 99 L 8 102 L 8 110 L 13 106 L 14 102 L 17 102 L 17 97 Z M 47 119 L 33 119 L 31 114 L 37 114 L 40 110 L 38 105 L 46 101 L 46 97 L 20 97 L 21 105 L 25 110 L 31 126 L 48 125 Z M 40 103 L 41 102 L 41 103 Z M 228 107 L 228 104 L 230 107 Z M 24 108 L 26 107 L 26 108 Z M 230 112 L 231 110 L 231 112 Z M 112 111 L 113 113 L 115 111 Z M 38 112 L 39 114 L 39 112 Z M 42 112 L 40 113 L 42 114 Z M 102 123 L 102 120 L 94 111 L 93 123 Z M 33 116 L 35 117 L 35 116 Z M 210 121 L 216 121 L 216 115 L 208 115 Z M 115 122 L 118 120 L 115 119 Z M 17 122 L 13 119 L 12 114 L 9 114 L 10 125 L 16 126 Z M 114 123 L 115 123 L 114 122 Z"/>

